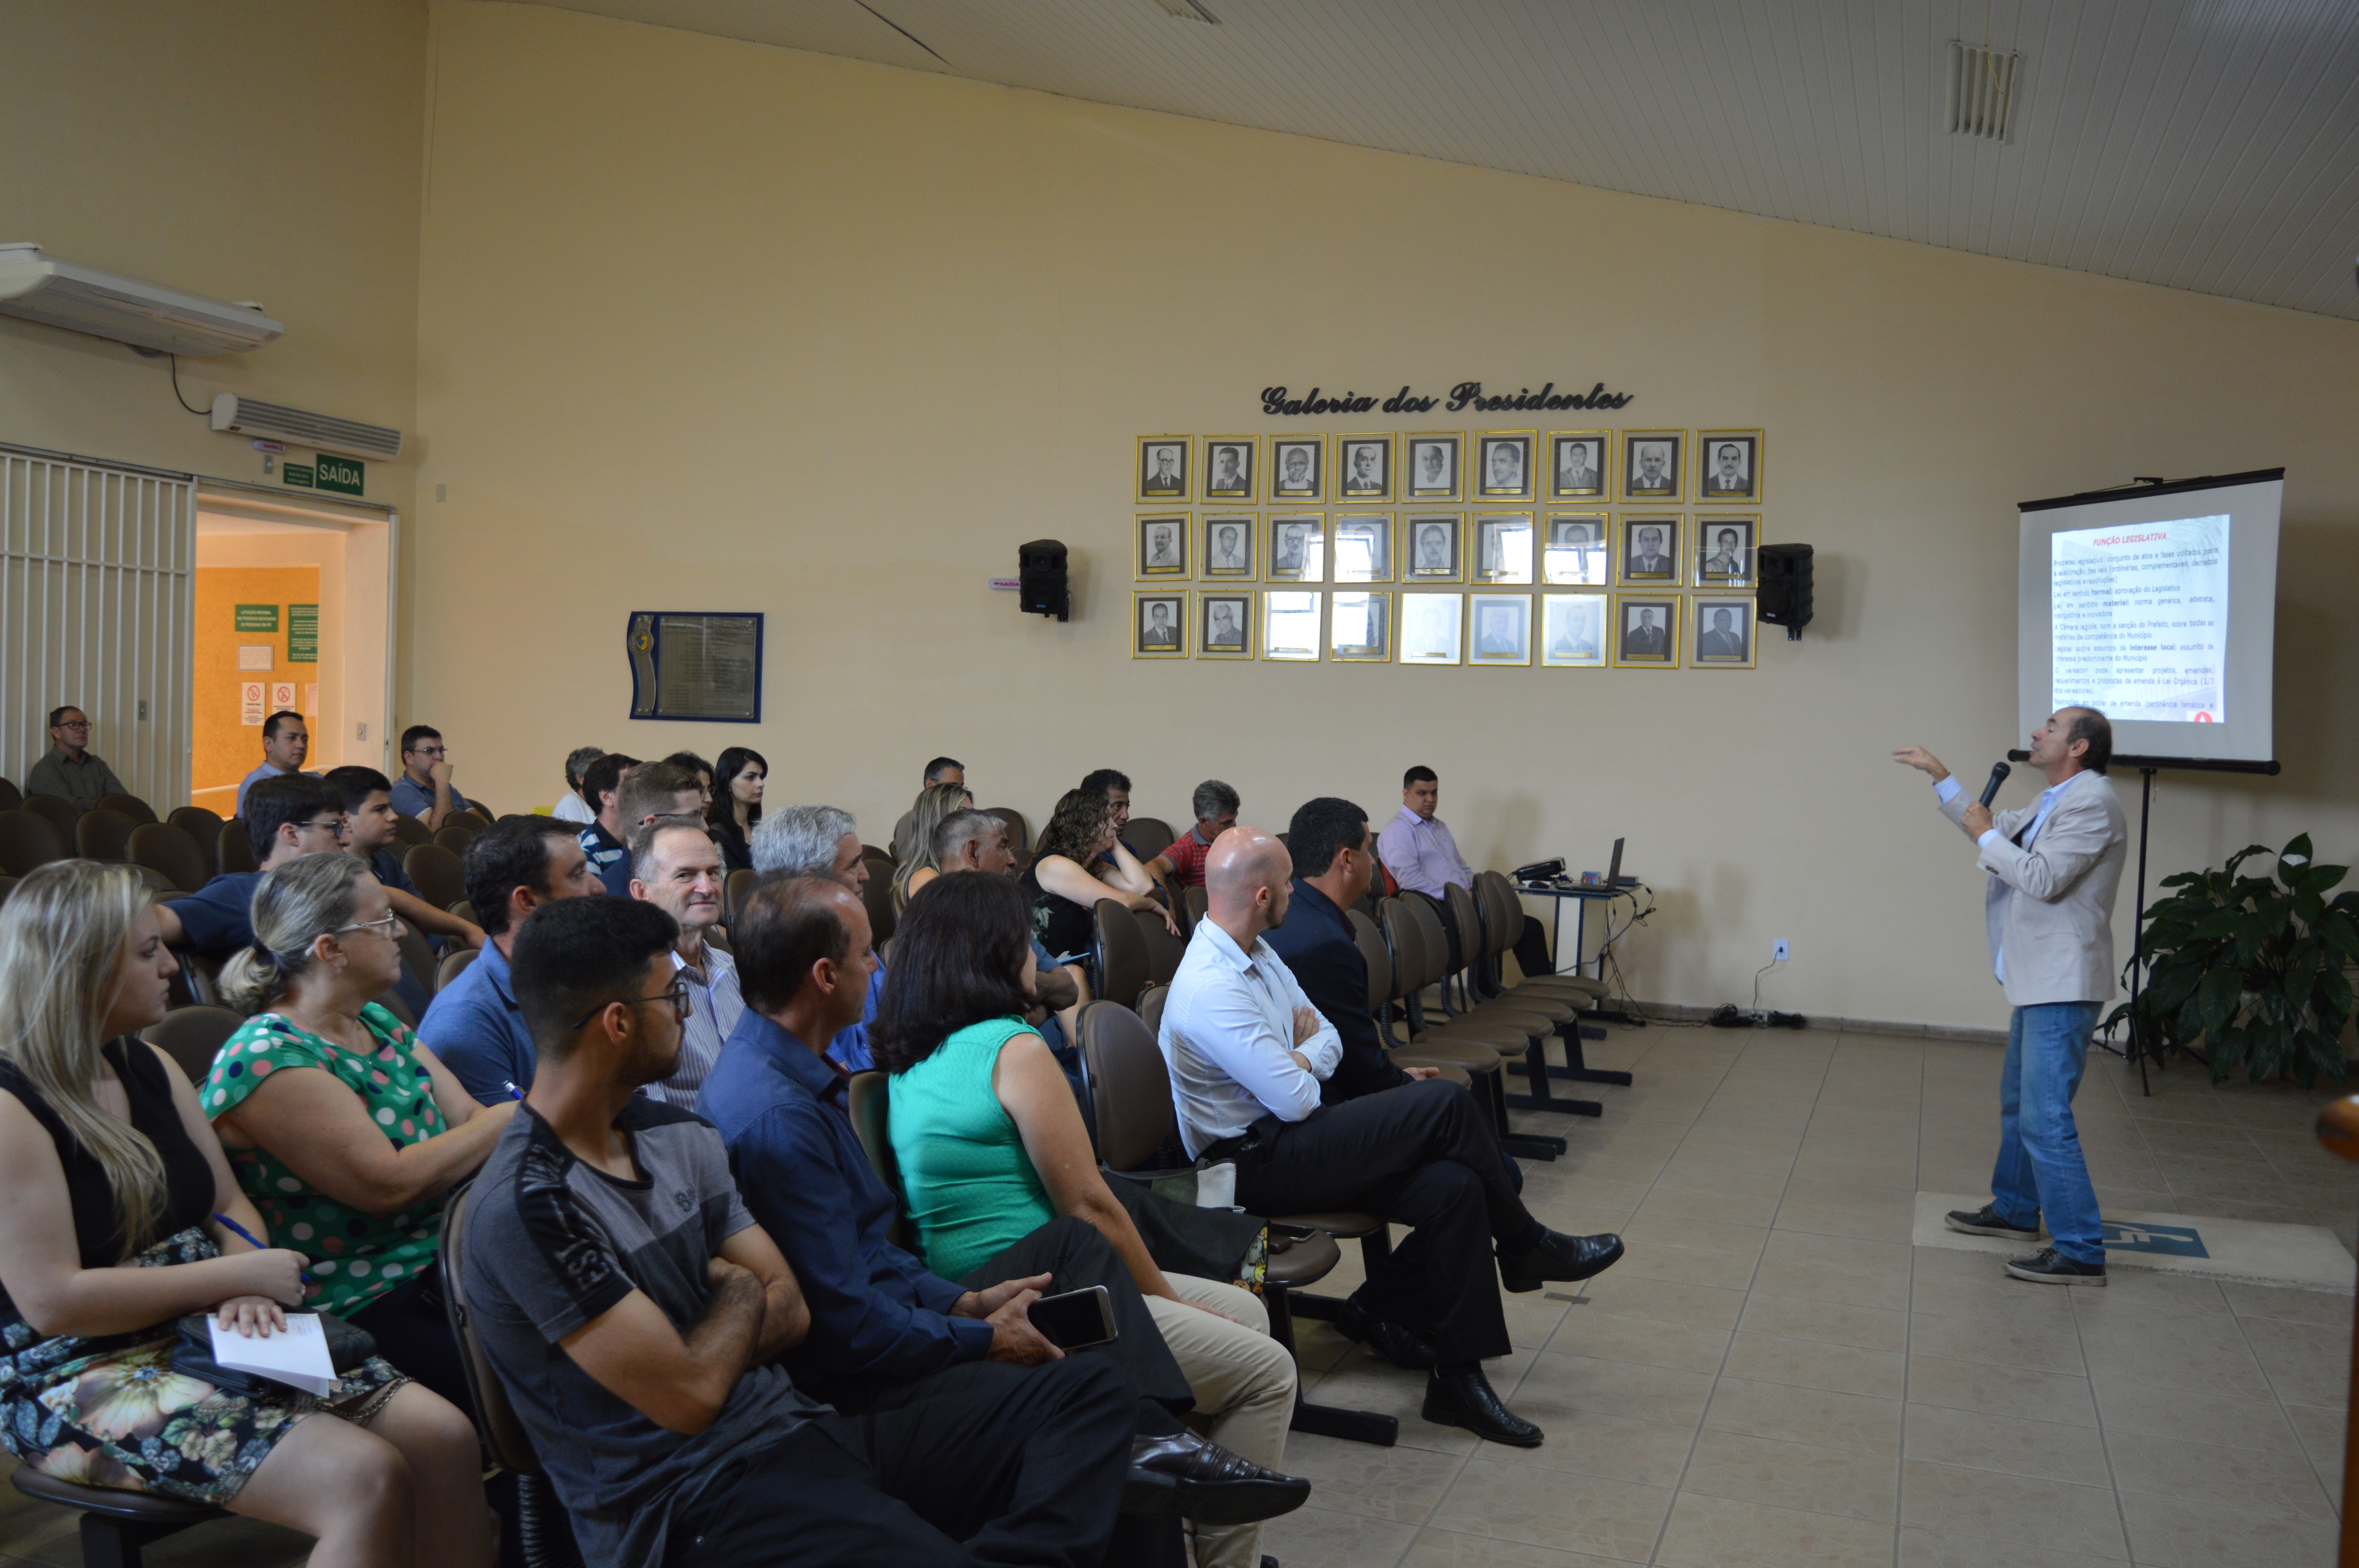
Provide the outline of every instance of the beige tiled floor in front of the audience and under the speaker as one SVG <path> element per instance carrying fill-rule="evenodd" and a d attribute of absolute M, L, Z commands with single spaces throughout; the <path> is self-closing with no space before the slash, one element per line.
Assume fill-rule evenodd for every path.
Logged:
<path fill-rule="evenodd" d="M 1305 1323 L 1314 1398 L 1401 1417 L 1399 1448 L 1295 1436 L 1312 1507 L 1264 1547 L 1288 1568 L 2161 1568 L 2333 1561 L 2352 1299 L 2116 1269 L 2022 1285 L 1911 1247 L 1913 1195 L 1982 1191 L 1998 1049 L 1831 1033 L 1647 1028 L 1599 1120 L 1545 1120 L 1531 1165 L 1559 1228 L 1630 1254 L 1578 1299 L 1507 1297 L 1491 1368 L 1548 1429 L 1493 1448 L 1418 1419 L 1422 1382 Z M 2359 1177 L 2309 1134 L 2319 1096 L 2213 1089 L 2102 1059 L 2081 1092 L 2118 1210 L 2359 1236 Z M 1323 1292 L 1349 1290 L 1347 1252 Z M 0 1568 L 78 1563 L 73 1523 L 0 1493 Z M 156 1568 L 278 1568 L 302 1540 L 205 1526 Z"/>

